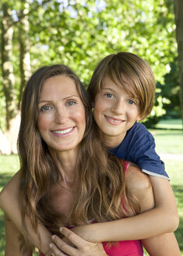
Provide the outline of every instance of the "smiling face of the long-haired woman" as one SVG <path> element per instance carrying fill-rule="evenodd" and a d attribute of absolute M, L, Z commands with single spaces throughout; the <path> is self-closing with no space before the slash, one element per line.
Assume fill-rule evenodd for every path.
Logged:
<path fill-rule="evenodd" d="M 75 149 L 83 139 L 86 119 L 74 81 L 64 75 L 45 80 L 38 108 L 37 125 L 48 148 L 55 151 Z"/>

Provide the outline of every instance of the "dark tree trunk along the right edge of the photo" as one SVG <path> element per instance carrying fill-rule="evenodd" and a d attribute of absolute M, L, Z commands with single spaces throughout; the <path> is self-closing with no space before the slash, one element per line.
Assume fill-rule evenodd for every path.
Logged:
<path fill-rule="evenodd" d="M 183 120 L 183 0 L 174 0 L 176 38 L 178 42 L 178 67 L 180 81 L 181 118 Z"/>

